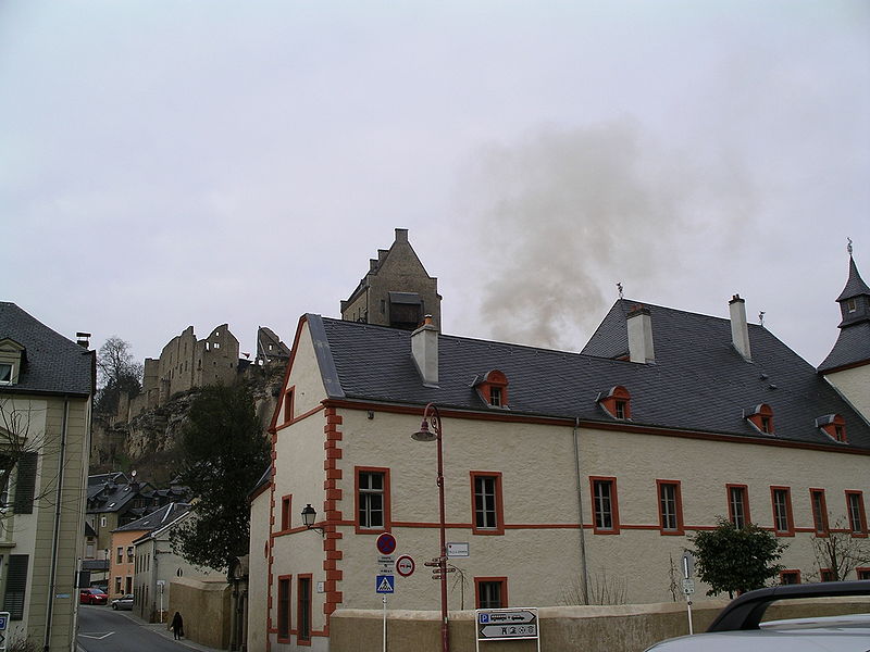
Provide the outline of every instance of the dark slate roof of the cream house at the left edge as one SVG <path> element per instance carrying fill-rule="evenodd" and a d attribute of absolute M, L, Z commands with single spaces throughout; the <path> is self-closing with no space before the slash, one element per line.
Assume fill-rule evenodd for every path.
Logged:
<path fill-rule="evenodd" d="M 87 397 L 94 392 L 96 353 L 55 333 L 14 303 L 0 301 L 0 339 L 25 348 L 15 385 L 0 392 Z"/>

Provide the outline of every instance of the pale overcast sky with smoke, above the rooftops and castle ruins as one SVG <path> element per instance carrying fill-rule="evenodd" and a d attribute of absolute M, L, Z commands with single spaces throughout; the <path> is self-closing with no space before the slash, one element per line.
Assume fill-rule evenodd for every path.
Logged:
<path fill-rule="evenodd" d="M 403 227 L 445 333 L 738 292 L 815 365 L 847 237 L 870 283 L 870 3 L 0 0 L 0 300 L 138 360 L 290 343 Z"/>

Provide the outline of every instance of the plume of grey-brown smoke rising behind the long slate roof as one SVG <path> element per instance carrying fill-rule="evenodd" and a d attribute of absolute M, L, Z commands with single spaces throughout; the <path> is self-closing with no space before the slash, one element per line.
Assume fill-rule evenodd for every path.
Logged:
<path fill-rule="evenodd" d="M 629 123 L 547 128 L 486 148 L 468 193 L 489 271 L 481 312 L 492 336 L 576 350 L 617 281 L 631 298 L 663 271 L 679 273 L 686 234 L 706 227 L 704 211 L 689 220 L 687 206 L 709 206 L 713 186 L 714 195 L 735 186 L 701 185 L 696 168 Z"/>

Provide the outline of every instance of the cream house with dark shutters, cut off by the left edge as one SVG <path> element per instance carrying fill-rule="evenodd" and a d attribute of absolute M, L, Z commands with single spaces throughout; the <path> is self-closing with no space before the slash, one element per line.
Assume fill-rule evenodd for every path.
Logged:
<path fill-rule="evenodd" d="M 7 643 L 70 650 L 96 377 L 87 335 L 76 343 L 0 302 L 0 611 Z"/>

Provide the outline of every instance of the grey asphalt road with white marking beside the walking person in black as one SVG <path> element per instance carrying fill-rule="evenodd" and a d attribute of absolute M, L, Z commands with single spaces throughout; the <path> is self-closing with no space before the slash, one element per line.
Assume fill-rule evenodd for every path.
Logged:
<path fill-rule="evenodd" d="M 111 606 L 83 604 L 78 610 L 78 645 L 87 652 L 184 652 L 184 641 L 153 631 Z"/>

